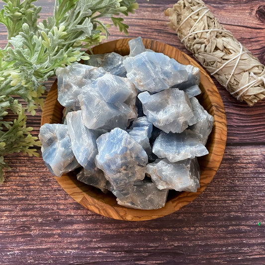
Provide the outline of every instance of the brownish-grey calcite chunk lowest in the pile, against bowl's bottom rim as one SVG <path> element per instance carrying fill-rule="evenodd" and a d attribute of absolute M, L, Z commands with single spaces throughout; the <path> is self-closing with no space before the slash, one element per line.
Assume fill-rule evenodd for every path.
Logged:
<path fill-rule="evenodd" d="M 111 190 L 119 205 L 142 210 L 159 209 L 165 206 L 168 189 L 158 189 L 153 182 L 138 181 L 124 191 Z"/>

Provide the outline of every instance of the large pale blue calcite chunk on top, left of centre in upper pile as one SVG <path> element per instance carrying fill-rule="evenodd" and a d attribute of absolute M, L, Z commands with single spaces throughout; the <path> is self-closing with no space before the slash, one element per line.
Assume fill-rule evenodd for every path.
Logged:
<path fill-rule="evenodd" d="M 83 122 L 88 129 L 126 129 L 136 118 L 137 91 L 127 79 L 106 74 L 83 88 L 78 96 Z"/>

